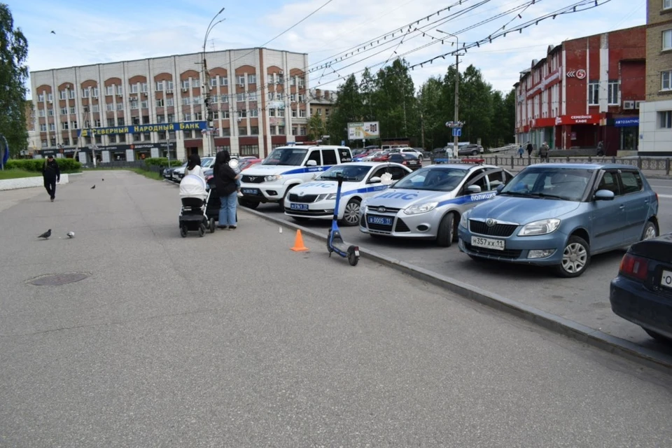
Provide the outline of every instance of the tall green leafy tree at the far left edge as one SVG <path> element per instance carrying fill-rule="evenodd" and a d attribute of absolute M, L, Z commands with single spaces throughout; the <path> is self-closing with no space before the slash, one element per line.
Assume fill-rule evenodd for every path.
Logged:
<path fill-rule="evenodd" d="M 0 134 L 15 157 L 28 146 L 26 129 L 26 87 L 28 41 L 20 28 L 14 28 L 9 7 L 0 3 Z"/>

